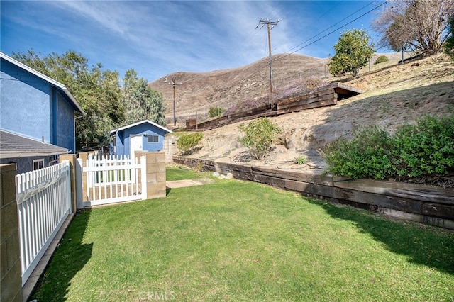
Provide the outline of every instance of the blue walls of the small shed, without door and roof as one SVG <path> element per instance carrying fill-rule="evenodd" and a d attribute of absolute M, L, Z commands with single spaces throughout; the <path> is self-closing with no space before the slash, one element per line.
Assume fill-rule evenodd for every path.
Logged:
<path fill-rule="evenodd" d="M 159 135 L 159 142 L 148 142 L 147 135 Z M 116 154 L 128 155 L 129 154 L 129 137 L 130 135 L 142 135 L 142 148 L 143 151 L 159 151 L 164 146 L 165 130 L 157 128 L 149 123 L 142 123 L 135 125 L 131 128 L 118 131 L 116 136 Z"/>

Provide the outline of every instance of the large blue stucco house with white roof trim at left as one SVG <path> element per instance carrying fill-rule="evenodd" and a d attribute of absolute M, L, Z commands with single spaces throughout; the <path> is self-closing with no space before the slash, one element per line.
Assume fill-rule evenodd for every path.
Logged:
<path fill-rule="evenodd" d="M 85 112 L 65 85 L 0 52 L 0 163 L 28 172 L 75 151 Z"/>

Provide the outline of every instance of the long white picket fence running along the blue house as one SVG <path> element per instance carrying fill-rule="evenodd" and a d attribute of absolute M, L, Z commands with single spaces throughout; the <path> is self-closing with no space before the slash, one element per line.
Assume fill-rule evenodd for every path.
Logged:
<path fill-rule="evenodd" d="M 16 176 L 22 285 L 71 213 L 70 162 Z"/>

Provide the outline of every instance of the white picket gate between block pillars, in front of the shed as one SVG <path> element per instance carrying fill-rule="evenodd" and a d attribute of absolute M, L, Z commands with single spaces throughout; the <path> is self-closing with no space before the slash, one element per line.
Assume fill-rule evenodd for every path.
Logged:
<path fill-rule="evenodd" d="M 82 159 L 77 159 L 82 167 Z M 82 167 L 82 207 L 147 198 L 146 157 L 94 157 Z M 79 207 L 79 206 L 78 206 Z"/>

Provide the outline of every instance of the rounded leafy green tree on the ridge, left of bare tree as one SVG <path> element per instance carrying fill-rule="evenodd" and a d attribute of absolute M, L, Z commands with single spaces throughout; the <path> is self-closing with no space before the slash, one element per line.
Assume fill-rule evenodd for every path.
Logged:
<path fill-rule="evenodd" d="M 329 72 L 339 74 L 351 72 L 353 77 L 358 75 L 361 67 L 365 67 L 374 53 L 370 36 L 366 30 L 345 30 L 334 45 L 336 54 L 331 58 Z"/>

